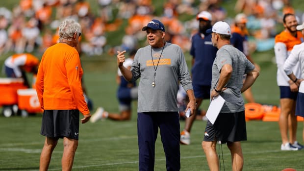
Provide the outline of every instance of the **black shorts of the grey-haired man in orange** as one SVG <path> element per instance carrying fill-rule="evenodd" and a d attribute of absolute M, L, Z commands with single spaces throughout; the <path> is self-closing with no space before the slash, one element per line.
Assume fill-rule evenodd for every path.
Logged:
<path fill-rule="evenodd" d="M 44 110 L 40 134 L 57 139 L 68 137 L 78 140 L 79 111 Z"/>

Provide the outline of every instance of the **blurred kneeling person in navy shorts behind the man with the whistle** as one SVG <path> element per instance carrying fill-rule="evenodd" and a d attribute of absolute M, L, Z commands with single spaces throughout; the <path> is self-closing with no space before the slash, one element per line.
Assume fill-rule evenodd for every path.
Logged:
<path fill-rule="evenodd" d="M 129 57 L 126 59 L 124 62 L 124 67 L 127 69 L 131 69 L 131 65 L 134 60 L 134 56 L 137 50 L 131 50 L 129 52 Z M 120 113 L 109 113 L 104 110 L 103 107 L 98 107 L 96 112 L 92 115 L 90 121 L 91 122 L 96 122 L 100 119 L 106 119 L 109 118 L 111 120 L 116 120 L 116 121 L 127 121 L 131 119 L 131 114 L 132 114 L 132 100 L 138 98 L 138 87 L 136 86 L 136 82 L 128 82 L 120 70 L 118 69 L 117 71 L 117 76 L 116 76 L 116 82 L 118 83 L 118 90 L 117 90 L 117 98 L 119 101 L 119 110 Z"/>

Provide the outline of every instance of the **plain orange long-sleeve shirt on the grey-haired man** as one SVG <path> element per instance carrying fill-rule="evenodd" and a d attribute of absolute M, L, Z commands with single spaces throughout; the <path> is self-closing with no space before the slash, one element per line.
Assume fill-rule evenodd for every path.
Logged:
<path fill-rule="evenodd" d="M 48 48 L 41 59 L 36 90 L 42 109 L 78 109 L 90 113 L 84 100 L 81 77 L 83 70 L 77 50 L 65 43 Z"/>

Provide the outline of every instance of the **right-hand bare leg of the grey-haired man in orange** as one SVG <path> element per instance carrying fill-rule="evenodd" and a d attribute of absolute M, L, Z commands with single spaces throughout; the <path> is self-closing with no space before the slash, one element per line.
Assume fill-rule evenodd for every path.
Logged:
<path fill-rule="evenodd" d="M 62 171 L 71 171 L 76 149 L 78 147 L 78 140 L 63 138 L 63 155 L 61 159 Z"/>

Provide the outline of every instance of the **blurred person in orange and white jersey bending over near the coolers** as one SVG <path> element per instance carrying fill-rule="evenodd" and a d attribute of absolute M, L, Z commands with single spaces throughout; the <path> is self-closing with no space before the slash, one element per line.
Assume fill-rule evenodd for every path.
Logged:
<path fill-rule="evenodd" d="M 30 53 L 9 56 L 4 61 L 5 74 L 9 78 L 23 78 L 24 85 L 30 87 L 26 73 L 37 74 L 39 59 Z"/>

